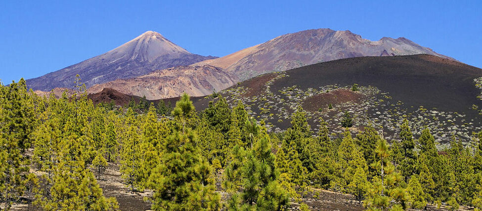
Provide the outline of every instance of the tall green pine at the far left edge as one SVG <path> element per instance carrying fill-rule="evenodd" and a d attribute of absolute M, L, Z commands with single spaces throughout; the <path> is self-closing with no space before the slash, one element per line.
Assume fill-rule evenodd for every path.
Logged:
<path fill-rule="evenodd" d="M 25 151 L 30 146 L 33 130 L 33 105 L 23 78 L 5 87 L 0 84 L 0 204 L 10 208 L 25 190 L 29 160 Z"/>

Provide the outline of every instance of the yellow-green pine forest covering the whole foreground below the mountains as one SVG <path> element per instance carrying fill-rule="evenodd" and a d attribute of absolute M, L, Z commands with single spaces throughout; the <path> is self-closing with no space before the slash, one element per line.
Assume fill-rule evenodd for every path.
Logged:
<path fill-rule="evenodd" d="M 370 123 L 334 134 L 320 119 L 314 133 L 298 107 L 291 127 L 268 133 L 220 95 L 196 110 L 187 94 L 172 107 L 114 106 L 94 105 L 79 80 L 75 90 L 56 98 L 23 79 L 0 86 L 1 210 L 118 210 L 98 184 L 109 165 L 132 192 L 151 191 L 144 201 L 156 211 L 308 210 L 302 198 L 315 190 L 374 211 L 482 210 L 482 132 L 438 150 L 429 128 L 415 138 L 406 119 L 388 142 Z"/>

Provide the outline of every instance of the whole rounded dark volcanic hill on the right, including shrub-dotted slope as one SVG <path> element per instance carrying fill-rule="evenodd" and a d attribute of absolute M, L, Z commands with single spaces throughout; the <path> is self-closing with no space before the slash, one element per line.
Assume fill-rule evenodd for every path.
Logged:
<path fill-rule="evenodd" d="M 302 106 L 314 130 L 322 117 L 334 132 L 343 131 L 340 122 L 348 111 L 353 131 L 370 121 L 390 140 L 407 118 L 416 135 L 428 126 L 446 143 L 451 134 L 469 140 L 472 131 L 481 130 L 476 78 L 482 78 L 479 68 L 427 54 L 357 57 L 263 74 L 221 95 L 231 106 L 242 101 L 272 131 L 289 127 L 291 113 Z M 358 91 L 351 91 L 353 84 Z M 197 100 L 195 106 L 206 108 L 210 100 Z"/>

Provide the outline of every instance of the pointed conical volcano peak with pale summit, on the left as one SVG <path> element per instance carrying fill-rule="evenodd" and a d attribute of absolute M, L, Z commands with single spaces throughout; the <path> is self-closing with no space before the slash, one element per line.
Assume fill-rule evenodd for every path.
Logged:
<path fill-rule="evenodd" d="M 148 31 L 105 54 L 28 79 L 27 86 L 42 91 L 56 87 L 72 88 L 75 76 L 79 74 L 82 82 L 90 87 L 214 58 L 189 53 L 161 34 Z"/>

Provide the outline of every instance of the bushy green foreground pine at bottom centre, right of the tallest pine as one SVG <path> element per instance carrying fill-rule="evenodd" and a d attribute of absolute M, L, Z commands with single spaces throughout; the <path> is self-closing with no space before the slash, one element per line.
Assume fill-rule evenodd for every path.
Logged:
<path fill-rule="evenodd" d="M 236 146 L 230 160 L 222 183 L 230 194 L 228 210 L 279 211 L 287 208 L 289 196 L 278 183 L 279 172 L 267 135 L 247 152 Z"/>

